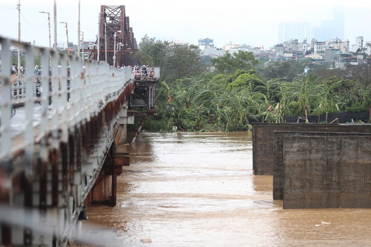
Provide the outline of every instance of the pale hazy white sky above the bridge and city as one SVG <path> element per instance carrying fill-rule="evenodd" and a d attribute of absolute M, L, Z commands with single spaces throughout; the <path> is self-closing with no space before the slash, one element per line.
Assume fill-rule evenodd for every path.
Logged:
<path fill-rule="evenodd" d="M 18 11 L 4 8 L 16 8 L 17 3 L 18 0 L 0 0 L 1 36 L 17 39 Z M 194 44 L 198 38 L 209 37 L 217 47 L 233 41 L 252 46 L 263 44 L 268 48 L 278 42 L 279 22 L 309 21 L 311 26 L 319 25 L 320 20 L 332 19 L 335 3 L 345 8 L 345 36 L 350 44 L 354 44 L 359 35 L 371 40 L 369 0 L 81 0 L 81 31 L 84 31 L 85 40 L 95 39 L 100 5 L 125 4 L 137 41 L 145 34 Z M 53 0 L 21 0 L 21 40 L 35 40 L 37 45 L 48 46 L 47 15 L 39 11 L 50 12 L 53 26 Z M 57 0 L 57 21 L 57 41 L 66 42 L 66 29 L 59 21 L 67 21 L 69 41 L 77 43 L 78 0 Z M 44 23 L 42 27 L 33 27 Z M 52 29 L 52 43 L 53 37 Z"/>

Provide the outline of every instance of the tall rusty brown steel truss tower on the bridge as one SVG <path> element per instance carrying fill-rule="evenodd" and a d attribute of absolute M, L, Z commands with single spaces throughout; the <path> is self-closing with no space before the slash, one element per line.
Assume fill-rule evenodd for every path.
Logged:
<path fill-rule="evenodd" d="M 105 44 L 107 46 L 107 63 L 115 67 L 125 64 L 134 66 L 134 53 L 138 51 L 137 40 L 134 38 L 129 17 L 125 14 L 125 5 L 101 5 L 101 20 L 99 22 L 99 60 L 105 61 Z M 121 32 L 119 32 L 121 31 Z M 116 33 L 116 42 L 115 42 Z M 115 47 L 116 44 L 116 47 Z M 98 45 L 98 39 L 96 41 Z M 97 60 L 98 50 L 91 50 L 93 60 Z M 114 64 L 114 52 L 116 62 Z"/>

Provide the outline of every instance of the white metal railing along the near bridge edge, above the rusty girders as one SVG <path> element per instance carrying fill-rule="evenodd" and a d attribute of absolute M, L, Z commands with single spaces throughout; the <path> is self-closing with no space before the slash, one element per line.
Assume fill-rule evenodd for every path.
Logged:
<path fill-rule="evenodd" d="M 75 126 L 81 121 L 89 121 L 106 104 L 118 97 L 118 93 L 124 90 L 129 80 L 134 79 L 134 73 L 131 73 L 130 67 L 118 70 L 104 62 L 98 63 L 97 61 L 68 57 L 59 51 L 55 52 L 30 44 L 18 43 L 3 37 L 0 37 L 0 44 L 1 160 L 9 160 L 12 153 L 17 150 L 25 150 L 26 154 L 32 155 L 35 139 L 52 131 L 57 133 L 58 130 L 61 130 L 62 141 L 67 141 L 69 127 Z M 26 73 L 24 77 L 19 78 L 16 74 L 12 74 L 10 69 L 12 56 L 10 47 L 12 46 L 27 50 L 24 66 L 29 70 L 35 66 L 35 55 L 41 53 L 43 70 L 39 83 L 43 87 L 43 91 L 39 97 L 41 105 L 39 112 L 36 112 L 34 106 L 35 89 L 40 85 L 35 83 L 33 73 Z M 68 66 L 68 62 L 71 67 L 70 75 L 68 75 L 67 69 L 63 69 Z M 49 73 L 47 73 L 48 68 Z M 68 94 L 70 100 L 68 100 Z M 13 130 L 13 120 L 11 119 L 14 99 L 24 101 L 26 115 L 24 116 L 25 121 L 17 124 L 17 131 Z"/>

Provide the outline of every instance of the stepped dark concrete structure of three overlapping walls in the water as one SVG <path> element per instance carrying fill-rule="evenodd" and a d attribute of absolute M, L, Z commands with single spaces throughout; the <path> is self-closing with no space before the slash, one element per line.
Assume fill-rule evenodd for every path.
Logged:
<path fill-rule="evenodd" d="M 253 170 L 283 208 L 371 208 L 370 124 L 253 124 Z"/>

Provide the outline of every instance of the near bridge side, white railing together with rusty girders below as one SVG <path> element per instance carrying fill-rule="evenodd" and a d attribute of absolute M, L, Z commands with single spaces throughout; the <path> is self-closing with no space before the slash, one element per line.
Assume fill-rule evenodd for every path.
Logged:
<path fill-rule="evenodd" d="M 36 225 L 58 218 L 47 233 L 12 226 L 0 239 L 16 233 L 14 245 L 49 246 L 55 231 L 61 236 L 56 245 L 65 246 L 114 142 L 114 125 L 134 90 L 134 73 L 131 67 L 118 70 L 1 36 L 0 46 L 0 204 L 38 208 L 43 217 L 33 218 Z M 34 73 L 12 74 L 13 46 L 27 50 L 23 65 L 28 69 L 41 54 L 39 80 Z M 43 88 L 37 102 L 36 82 Z M 12 117 L 14 91 L 24 102 Z M 0 227 L 2 222 L 0 214 Z"/>

